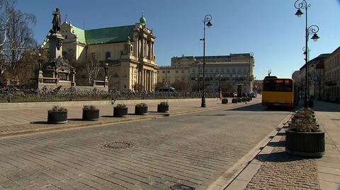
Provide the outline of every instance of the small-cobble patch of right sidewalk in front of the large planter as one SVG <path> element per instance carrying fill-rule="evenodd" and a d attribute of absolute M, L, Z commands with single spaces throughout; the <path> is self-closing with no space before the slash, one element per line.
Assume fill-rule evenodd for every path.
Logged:
<path fill-rule="evenodd" d="M 314 159 L 301 158 L 285 153 L 285 137 L 265 158 L 258 172 L 245 190 L 256 189 L 319 189 L 317 163 Z"/>

